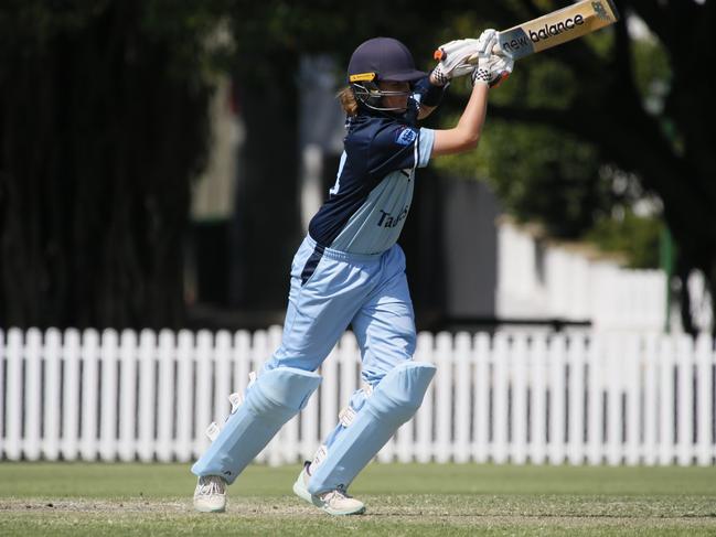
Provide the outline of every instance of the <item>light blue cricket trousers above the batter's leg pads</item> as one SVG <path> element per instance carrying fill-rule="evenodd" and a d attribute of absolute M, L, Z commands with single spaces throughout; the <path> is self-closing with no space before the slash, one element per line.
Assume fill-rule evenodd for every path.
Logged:
<path fill-rule="evenodd" d="M 377 255 L 346 254 L 307 236 L 291 265 L 288 302 L 281 345 L 265 369 L 318 369 L 349 325 L 370 385 L 413 358 L 415 318 L 397 244 Z"/>

